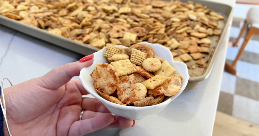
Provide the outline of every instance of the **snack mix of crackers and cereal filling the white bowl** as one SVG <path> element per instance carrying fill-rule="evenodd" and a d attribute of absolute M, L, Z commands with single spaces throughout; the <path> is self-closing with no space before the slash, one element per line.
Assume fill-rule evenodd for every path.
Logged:
<path fill-rule="evenodd" d="M 107 101 L 138 107 L 155 105 L 182 88 L 182 76 L 174 74 L 176 69 L 156 56 L 149 45 L 120 48 L 107 44 L 104 56 L 111 64 L 99 63 L 91 76 L 97 93 Z"/>

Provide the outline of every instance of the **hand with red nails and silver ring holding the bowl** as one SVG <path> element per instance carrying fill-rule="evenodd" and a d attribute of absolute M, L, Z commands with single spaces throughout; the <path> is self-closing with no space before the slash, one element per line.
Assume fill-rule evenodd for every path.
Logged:
<path fill-rule="evenodd" d="M 83 67 L 91 66 L 91 58 L 93 55 L 88 55 L 80 60 L 86 62 L 68 63 L 42 77 L 4 89 L 11 134 L 84 135 L 101 128 L 133 126 L 134 121 L 113 116 L 97 99 L 82 98 L 88 92 L 79 80 L 71 78 L 78 76 Z M 79 120 L 82 109 L 85 111 Z"/>

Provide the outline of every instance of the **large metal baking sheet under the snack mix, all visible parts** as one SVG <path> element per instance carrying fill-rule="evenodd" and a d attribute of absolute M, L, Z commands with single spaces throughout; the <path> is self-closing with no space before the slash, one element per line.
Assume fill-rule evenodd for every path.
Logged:
<path fill-rule="evenodd" d="M 181 0 L 181 2 L 187 2 L 187 1 L 188 0 Z M 227 26 L 229 25 L 229 22 L 231 20 L 231 16 L 233 13 L 233 8 L 226 4 L 210 2 L 210 1 L 202 1 L 202 0 L 192 0 L 192 1 L 195 3 L 200 3 L 202 5 L 206 5 L 209 9 L 212 9 L 215 12 L 223 15 L 225 19 L 219 21 L 219 25 L 221 26 L 221 29 L 220 29 L 221 34 L 219 36 L 213 35 L 208 37 L 211 39 L 212 43 L 210 46 L 210 53 L 208 55 L 205 55 L 204 60 L 207 60 L 207 61 L 204 67 L 196 67 L 195 69 L 191 69 L 191 68 L 188 69 L 190 79 L 186 89 L 195 88 L 200 81 L 205 80 L 210 75 L 211 69 L 214 64 L 214 60 L 217 56 L 222 40 L 224 39 L 224 35 L 227 31 Z M 60 47 L 69 49 L 71 51 L 74 51 L 83 55 L 89 55 L 100 50 L 98 48 L 95 48 L 86 44 L 81 44 L 74 40 L 70 40 L 68 38 L 49 33 L 46 30 L 42 30 L 37 27 L 20 23 L 16 20 L 13 20 L 4 16 L 0 16 L 0 24 L 13 28 L 15 30 L 18 30 L 22 33 L 31 35 L 33 37 L 39 38 L 41 40 L 51 42 L 52 44 L 58 45 Z M 194 64 L 193 61 L 194 60 L 186 62 L 186 65 L 190 65 L 190 64 L 193 65 Z"/>

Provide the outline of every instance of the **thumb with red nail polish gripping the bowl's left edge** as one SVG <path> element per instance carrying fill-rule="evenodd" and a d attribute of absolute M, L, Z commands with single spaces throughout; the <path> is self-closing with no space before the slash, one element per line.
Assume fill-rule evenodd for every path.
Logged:
<path fill-rule="evenodd" d="M 73 76 L 79 76 L 80 70 L 89 67 L 93 63 L 94 54 L 85 56 L 76 62 L 67 63 L 60 67 L 54 68 L 47 74 L 40 77 L 43 87 L 57 89 L 66 84 Z"/>

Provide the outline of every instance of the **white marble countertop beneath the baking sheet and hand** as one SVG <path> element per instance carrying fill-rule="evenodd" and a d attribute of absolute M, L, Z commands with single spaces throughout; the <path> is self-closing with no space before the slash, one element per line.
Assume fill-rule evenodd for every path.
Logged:
<path fill-rule="evenodd" d="M 210 0 L 233 6 L 235 0 Z M 229 29 L 211 75 L 183 91 L 160 113 L 136 120 L 128 129 L 102 129 L 88 135 L 212 135 Z M 0 78 L 18 84 L 83 56 L 0 25 Z M 78 77 L 74 77 L 78 78 Z M 4 88 L 10 86 L 4 83 Z"/>

